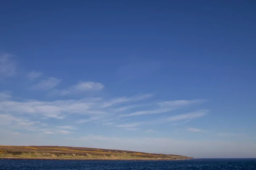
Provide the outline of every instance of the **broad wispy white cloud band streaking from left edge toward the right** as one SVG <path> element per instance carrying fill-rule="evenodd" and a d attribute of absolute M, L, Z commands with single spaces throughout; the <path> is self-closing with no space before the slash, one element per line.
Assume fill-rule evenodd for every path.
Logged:
<path fill-rule="evenodd" d="M 87 122 L 95 122 L 98 125 L 106 125 L 112 127 L 119 127 L 126 130 L 135 130 L 135 128 L 144 125 L 160 125 L 169 122 L 184 122 L 189 121 L 195 118 L 199 118 L 204 116 L 207 113 L 207 110 L 200 110 L 197 112 L 186 113 L 186 114 L 178 114 L 174 116 L 163 116 L 159 118 L 151 118 L 146 121 L 136 122 L 136 119 L 133 118 L 125 118 L 119 116 L 119 108 L 125 108 L 121 110 L 129 111 L 134 110 L 134 108 L 144 106 L 143 104 L 137 104 L 134 107 L 132 102 L 143 102 L 144 99 L 148 99 L 151 97 L 151 94 L 143 94 L 131 97 L 120 97 L 122 100 L 122 107 L 119 107 L 117 104 L 113 104 L 114 99 L 103 99 L 103 98 L 85 98 L 79 100 L 55 100 L 51 102 L 38 101 L 38 100 L 25 100 L 22 102 L 9 100 L 8 97 L 3 101 L 0 101 L 0 112 L 8 111 L 9 114 L 19 115 L 19 116 L 35 116 L 41 118 L 55 118 L 55 119 L 65 119 L 71 114 L 79 114 L 81 117 L 79 120 L 73 120 L 73 123 L 83 124 Z M 131 103 L 127 103 L 127 101 Z M 108 105 L 106 107 L 106 103 Z M 121 104 L 119 103 L 119 104 Z M 154 103 L 153 103 L 154 104 Z M 152 104 L 152 105 L 153 105 Z M 103 107 L 102 107 L 103 106 Z M 155 106 L 158 106 L 158 103 L 155 103 Z M 153 108 L 155 107 L 153 106 Z M 152 107 L 152 106 L 151 106 Z M 133 116 L 143 115 L 142 113 L 150 112 L 154 113 L 166 113 L 171 110 L 171 108 L 163 108 L 160 107 L 157 110 L 152 109 L 151 111 L 137 111 Z M 145 114 L 146 115 L 146 114 Z M 166 114 L 165 114 L 166 115 Z M 84 118 L 83 118 L 84 117 Z M 131 119 L 131 122 L 127 122 Z M 132 120 L 133 119 L 133 120 Z M 125 123 L 124 123 L 125 122 Z M 62 128 L 72 130 L 71 126 L 58 126 L 55 128 Z M 45 130 L 52 131 L 52 130 Z"/>

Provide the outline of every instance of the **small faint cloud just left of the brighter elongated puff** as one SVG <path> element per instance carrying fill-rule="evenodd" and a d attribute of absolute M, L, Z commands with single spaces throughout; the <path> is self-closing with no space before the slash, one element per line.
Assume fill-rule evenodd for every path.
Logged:
<path fill-rule="evenodd" d="M 32 90 L 49 90 L 60 84 L 61 79 L 49 77 L 48 79 L 41 80 L 38 84 L 31 87 Z"/>

